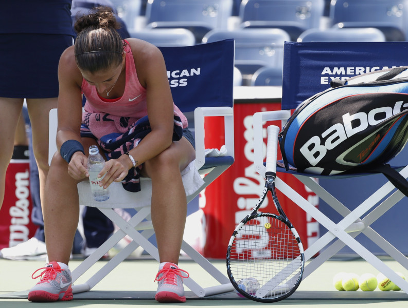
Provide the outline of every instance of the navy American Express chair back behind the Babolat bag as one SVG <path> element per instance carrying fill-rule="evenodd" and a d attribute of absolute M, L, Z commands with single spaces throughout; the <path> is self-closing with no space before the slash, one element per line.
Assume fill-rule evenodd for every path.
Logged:
<path fill-rule="evenodd" d="M 335 78 L 408 65 L 408 42 L 285 42 L 282 109 L 294 109 Z"/>

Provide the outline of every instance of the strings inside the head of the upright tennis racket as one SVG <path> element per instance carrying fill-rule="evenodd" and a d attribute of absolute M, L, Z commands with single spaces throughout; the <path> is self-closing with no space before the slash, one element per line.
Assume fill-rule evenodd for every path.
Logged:
<path fill-rule="evenodd" d="M 272 215 L 262 214 L 244 224 L 230 249 L 235 281 L 255 278 L 260 290 L 251 294 L 276 298 L 292 290 L 302 268 L 301 253 L 290 228 Z"/>

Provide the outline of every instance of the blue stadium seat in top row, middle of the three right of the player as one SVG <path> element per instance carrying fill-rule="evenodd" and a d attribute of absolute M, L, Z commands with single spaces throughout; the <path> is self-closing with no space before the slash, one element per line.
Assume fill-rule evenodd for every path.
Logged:
<path fill-rule="evenodd" d="M 300 33 L 320 26 L 324 6 L 324 0 L 242 0 L 241 27 L 281 28 L 296 41 Z"/>

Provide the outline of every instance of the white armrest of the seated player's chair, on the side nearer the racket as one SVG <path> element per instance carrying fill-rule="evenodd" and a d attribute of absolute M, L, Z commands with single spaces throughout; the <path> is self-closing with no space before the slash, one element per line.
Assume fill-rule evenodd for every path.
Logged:
<path fill-rule="evenodd" d="M 232 107 L 198 107 L 194 110 L 197 170 L 205 162 L 204 117 L 224 117 L 225 147 L 227 155 L 234 157 L 234 109 Z"/>

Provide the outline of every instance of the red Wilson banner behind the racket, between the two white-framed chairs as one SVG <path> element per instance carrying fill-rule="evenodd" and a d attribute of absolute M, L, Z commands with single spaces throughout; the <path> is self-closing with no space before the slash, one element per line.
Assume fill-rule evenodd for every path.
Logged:
<path fill-rule="evenodd" d="M 203 244 L 205 257 L 225 258 L 228 241 L 236 225 L 250 213 L 262 193 L 265 179 L 255 171 L 254 167 L 253 114 L 258 111 L 277 109 L 280 109 L 280 103 L 234 105 L 235 162 L 211 183 L 200 197 L 200 208 L 204 216 L 202 223 L 205 230 Z M 275 125 L 280 127 L 280 123 Z M 223 129 L 221 119 L 212 117 L 206 119 L 206 136 L 210 136 L 206 140 L 207 148 L 220 148 L 224 144 L 223 137 L 220 136 L 220 131 Z M 220 136 L 218 140 L 217 136 Z M 263 138 L 266 148 L 266 125 Z M 290 184 L 312 204 L 318 206 L 317 196 L 296 178 L 281 173 L 278 173 L 278 177 Z M 283 210 L 295 226 L 306 249 L 319 237 L 318 223 L 278 190 L 277 194 Z M 278 214 L 271 196 L 263 202 L 260 211 Z"/>

